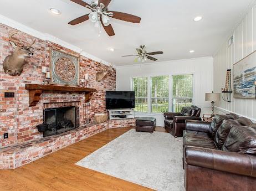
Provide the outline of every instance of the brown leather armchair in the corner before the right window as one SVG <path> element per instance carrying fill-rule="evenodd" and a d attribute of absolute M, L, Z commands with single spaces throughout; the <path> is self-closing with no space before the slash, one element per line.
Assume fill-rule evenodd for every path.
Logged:
<path fill-rule="evenodd" d="M 186 120 L 201 120 L 201 109 L 197 106 L 182 107 L 181 112 L 166 112 L 165 130 L 175 137 L 182 137 Z"/>

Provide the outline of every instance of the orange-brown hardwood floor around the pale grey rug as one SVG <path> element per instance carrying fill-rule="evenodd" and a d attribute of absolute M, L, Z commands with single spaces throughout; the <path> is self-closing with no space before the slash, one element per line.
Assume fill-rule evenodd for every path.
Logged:
<path fill-rule="evenodd" d="M 0 170 L 0 190 L 151 190 L 75 163 L 131 128 L 109 129 L 14 170 Z M 157 127 L 156 131 L 164 132 Z"/>

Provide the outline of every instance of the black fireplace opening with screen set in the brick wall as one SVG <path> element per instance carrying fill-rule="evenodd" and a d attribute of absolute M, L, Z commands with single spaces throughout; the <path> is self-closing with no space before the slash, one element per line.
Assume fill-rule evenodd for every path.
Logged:
<path fill-rule="evenodd" d="M 65 106 L 44 110 L 44 123 L 48 124 L 43 136 L 57 135 L 79 127 L 79 107 Z"/>

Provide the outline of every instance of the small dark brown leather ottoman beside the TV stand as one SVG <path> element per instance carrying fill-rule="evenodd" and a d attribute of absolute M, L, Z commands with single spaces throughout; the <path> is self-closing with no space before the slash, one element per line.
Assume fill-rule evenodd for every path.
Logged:
<path fill-rule="evenodd" d="M 140 117 L 136 120 L 136 131 L 144 131 L 153 133 L 156 128 L 156 118 Z"/>

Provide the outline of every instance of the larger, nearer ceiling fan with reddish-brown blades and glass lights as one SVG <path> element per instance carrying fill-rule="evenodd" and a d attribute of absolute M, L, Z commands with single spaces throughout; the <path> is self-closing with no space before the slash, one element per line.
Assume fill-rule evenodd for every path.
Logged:
<path fill-rule="evenodd" d="M 85 14 L 84 16 L 78 17 L 74 20 L 71 20 L 69 24 L 75 25 L 82 23 L 86 20 L 90 20 L 91 22 L 95 23 L 95 27 L 99 28 L 100 34 L 100 27 L 103 25 L 106 33 L 109 36 L 115 35 L 114 29 L 110 24 L 110 18 L 115 18 L 119 20 L 124 20 L 126 22 L 131 23 L 140 23 L 141 18 L 137 16 L 133 16 L 132 14 L 121 13 L 116 11 L 109 11 L 109 3 L 111 0 L 93 0 L 91 4 L 85 3 L 81 0 L 70 0 L 74 3 L 80 4 L 83 7 L 90 9 L 92 12 L 90 14 Z"/>

